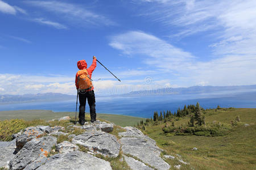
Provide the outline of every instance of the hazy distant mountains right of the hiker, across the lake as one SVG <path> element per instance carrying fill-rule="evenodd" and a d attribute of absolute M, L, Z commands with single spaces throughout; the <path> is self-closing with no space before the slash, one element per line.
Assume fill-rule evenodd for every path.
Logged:
<path fill-rule="evenodd" d="M 256 85 L 250 86 L 192 86 L 180 88 L 159 88 L 157 90 L 133 91 L 126 96 L 145 95 L 188 95 L 188 94 L 212 94 L 212 93 L 239 93 L 256 91 Z M 122 96 L 123 96 L 122 95 Z"/>

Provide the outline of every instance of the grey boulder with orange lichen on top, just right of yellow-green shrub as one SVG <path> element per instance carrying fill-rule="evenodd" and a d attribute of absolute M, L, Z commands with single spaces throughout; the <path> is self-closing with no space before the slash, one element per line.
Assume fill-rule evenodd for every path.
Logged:
<path fill-rule="evenodd" d="M 16 138 L 16 151 L 19 151 L 28 141 L 34 138 L 40 138 L 44 131 L 36 127 L 28 127 L 23 134 Z"/>

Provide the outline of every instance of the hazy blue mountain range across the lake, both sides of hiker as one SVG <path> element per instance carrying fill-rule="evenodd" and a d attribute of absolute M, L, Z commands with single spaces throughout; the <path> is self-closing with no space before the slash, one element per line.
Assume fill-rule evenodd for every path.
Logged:
<path fill-rule="evenodd" d="M 160 88 L 158 90 L 144 90 L 133 91 L 128 94 L 114 95 L 115 97 L 121 96 L 158 96 L 158 95 L 224 95 L 224 94 L 246 94 L 248 92 L 256 92 L 256 85 L 250 86 L 192 86 L 180 88 Z M 100 96 L 98 96 L 100 97 Z M 249 96 L 248 96 L 249 97 Z M 65 95 L 59 93 L 46 93 L 46 94 L 26 94 L 26 95 L 0 95 L 0 104 L 18 104 L 30 103 L 39 101 L 65 101 L 75 100 L 75 95 Z"/>

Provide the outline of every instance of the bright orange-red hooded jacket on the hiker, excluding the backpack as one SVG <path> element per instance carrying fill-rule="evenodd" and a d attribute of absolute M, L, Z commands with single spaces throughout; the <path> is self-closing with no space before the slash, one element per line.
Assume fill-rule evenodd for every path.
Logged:
<path fill-rule="evenodd" d="M 90 79 L 92 79 L 92 73 L 93 73 L 93 70 L 96 68 L 96 66 L 97 66 L 96 58 L 93 59 L 93 63 L 92 63 L 92 65 L 90 65 L 90 67 L 88 69 L 86 69 L 87 68 L 87 63 L 84 59 L 77 62 L 77 67 L 79 68 L 79 70 L 86 69 L 89 76 L 90 76 Z M 76 82 L 75 82 L 76 83 L 76 89 L 79 89 L 79 86 L 77 84 L 77 80 L 78 80 L 78 75 L 76 73 Z M 92 91 L 93 89 L 94 89 L 94 87 L 90 88 L 90 90 L 88 90 L 88 91 Z"/>

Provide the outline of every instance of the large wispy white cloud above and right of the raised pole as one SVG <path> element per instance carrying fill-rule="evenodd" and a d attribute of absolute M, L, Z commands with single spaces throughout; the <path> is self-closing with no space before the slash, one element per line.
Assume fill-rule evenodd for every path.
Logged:
<path fill-rule="evenodd" d="M 180 64 L 184 63 L 184 67 L 191 66 L 188 61 L 193 61 L 191 53 L 184 52 L 158 37 L 149 35 L 141 31 L 129 31 L 116 36 L 110 37 L 110 46 L 115 49 L 122 50 L 124 54 L 134 55 L 142 54 L 149 56 L 144 62 L 154 67 L 180 70 Z"/>

